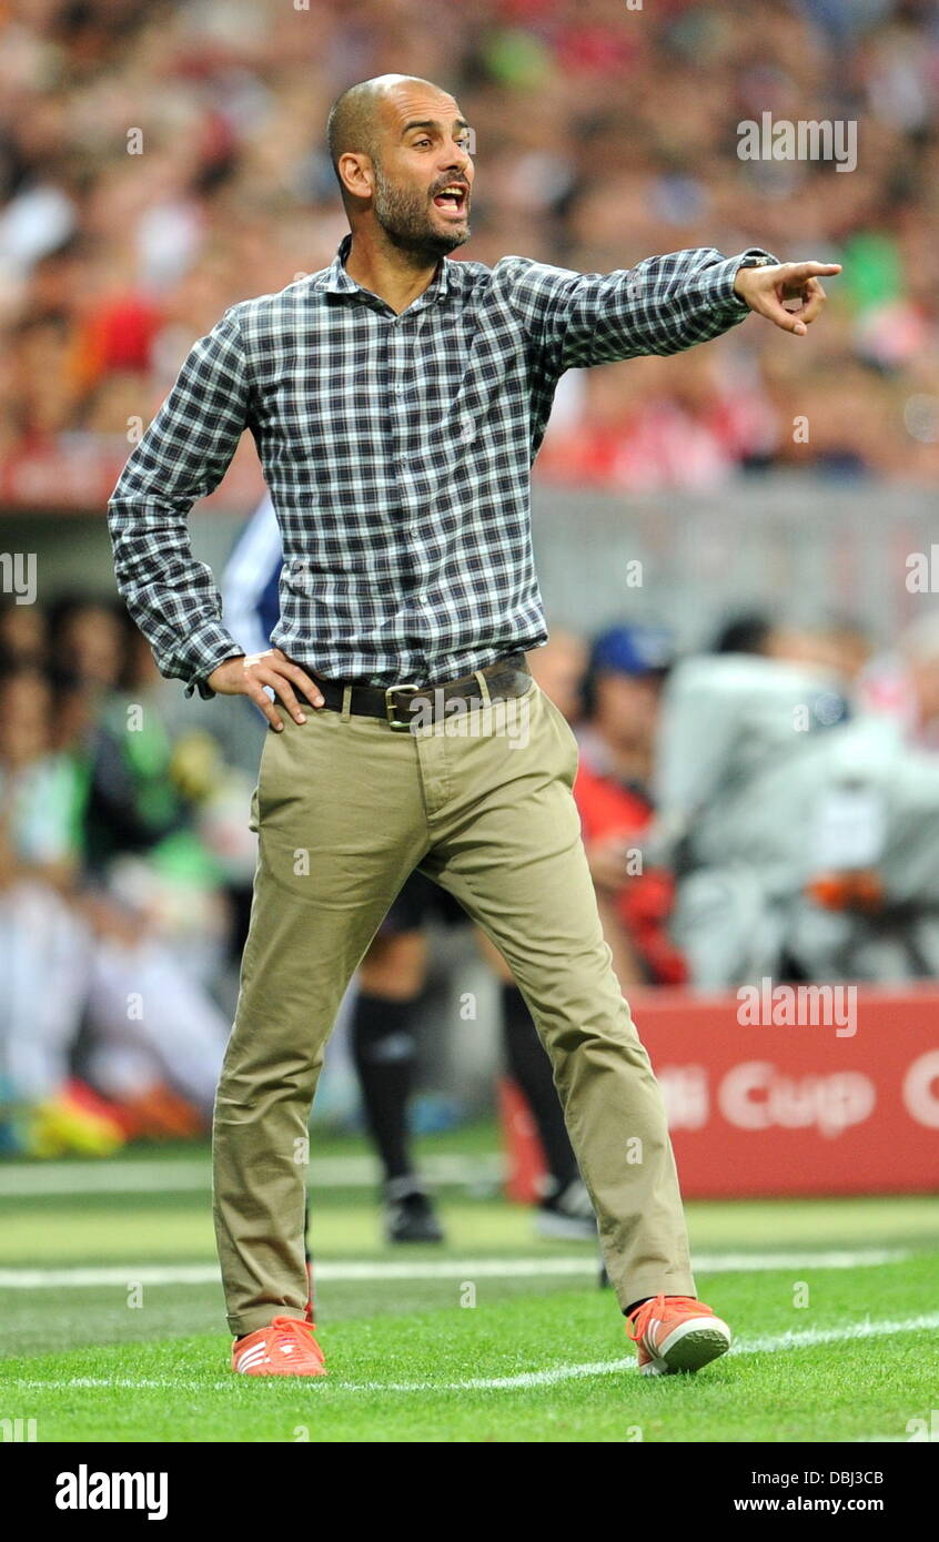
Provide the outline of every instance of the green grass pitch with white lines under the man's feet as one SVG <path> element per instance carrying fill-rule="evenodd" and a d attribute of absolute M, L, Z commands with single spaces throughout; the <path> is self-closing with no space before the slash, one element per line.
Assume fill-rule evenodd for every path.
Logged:
<path fill-rule="evenodd" d="M 382 1246 L 359 1143 L 313 1146 L 330 1366 L 313 1382 L 228 1371 L 204 1149 L 71 1173 L 5 1163 L 0 1420 L 82 1443 L 902 1442 L 930 1426 L 931 1198 L 691 1204 L 698 1292 L 735 1346 L 697 1377 L 643 1379 L 594 1251 L 538 1241 L 492 1187 L 492 1132 L 424 1144 L 447 1180 L 469 1152 L 438 1189 L 446 1247 Z M 345 1181 L 318 1184 L 318 1161 Z"/>

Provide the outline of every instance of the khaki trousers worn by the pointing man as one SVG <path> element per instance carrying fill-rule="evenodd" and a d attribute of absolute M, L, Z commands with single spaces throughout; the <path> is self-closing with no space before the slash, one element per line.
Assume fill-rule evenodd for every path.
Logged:
<path fill-rule="evenodd" d="M 327 709 L 282 715 L 254 793 L 254 899 L 213 1129 L 231 1332 L 304 1315 L 324 1049 L 415 867 L 456 896 L 526 998 L 620 1305 L 692 1295 L 665 1110 L 600 930 L 570 791 L 577 740 L 560 711 L 532 682 L 515 702 L 407 732 Z"/>

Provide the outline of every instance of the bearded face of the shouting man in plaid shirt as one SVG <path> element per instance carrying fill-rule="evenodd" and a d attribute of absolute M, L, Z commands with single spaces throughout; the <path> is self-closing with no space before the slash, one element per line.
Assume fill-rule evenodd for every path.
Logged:
<path fill-rule="evenodd" d="M 396 247 L 446 256 L 470 237 L 475 168 L 466 119 L 453 97 L 407 86 L 389 93 L 379 125 L 375 219 Z"/>

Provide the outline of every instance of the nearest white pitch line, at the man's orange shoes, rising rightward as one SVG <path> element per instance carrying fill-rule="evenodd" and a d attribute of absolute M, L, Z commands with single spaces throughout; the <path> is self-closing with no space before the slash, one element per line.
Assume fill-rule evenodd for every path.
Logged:
<path fill-rule="evenodd" d="M 762 1338 L 740 1338 L 731 1345 L 729 1354 L 779 1354 L 786 1349 L 813 1349 L 816 1345 L 848 1343 L 857 1338 L 887 1338 L 893 1334 L 928 1332 L 939 1328 L 939 1312 L 925 1317 L 880 1318 L 877 1321 L 843 1323 L 840 1328 L 806 1328 L 785 1334 L 766 1334 Z M 125 1345 L 130 1351 L 131 1345 Z M 587 1375 L 612 1375 L 620 1371 L 635 1371 L 635 1360 L 594 1360 L 581 1365 L 555 1365 L 547 1371 L 523 1371 L 517 1375 L 469 1377 L 463 1382 L 342 1382 L 332 1380 L 341 1392 L 503 1392 L 529 1386 L 557 1386 Z M 3 1379 L 0 1379 L 2 1382 Z M 236 1379 L 241 1382 L 242 1379 Z M 9 1377 L 6 1386 L 20 1391 L 71 1391 L 77 1388 L 130 1388 L 159 1389 L 176 1388 L 193 1392 L 231 1391 L 231 1377 L 224 1382 L 204 1382 L 196 1377 L 94 1377 L 74 1375 L 63 1380 L 32 1380 Z M 330 1382 L 316 1379 L 316 1386 Z"/>

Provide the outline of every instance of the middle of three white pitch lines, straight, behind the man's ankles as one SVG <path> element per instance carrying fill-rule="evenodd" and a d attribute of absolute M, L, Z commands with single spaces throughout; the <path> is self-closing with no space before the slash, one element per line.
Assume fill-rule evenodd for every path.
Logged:
<path fill-rule="evenodd" d="M 890 1247 L 865 1247 L 856 1252 L 729 1252 L 695 1254 L 694 1266 L 702 1274 L 748 1274 L 763 1269 L 859 1269 L 902 1263 L 908 1257 L 907 1251 Z M 515 1280 L 546 1274 L 595 1277 L 598 1258 L 592 1254 L 577 1258 L 439 1258 L 407 1263 L 325 1258 L 322 1263 L 315 1263 L 315 1271 L 318 1283 L 345 1284 L 369 1280 Z M 3 1291 L 59 1291 L 66 1286 L 72 1289 L 126 1288 L 131 1280 L 139 1284 L 217 1284 L 220 1277 L 216 1263 L 0 1269 L 0 1289 Z"/>

